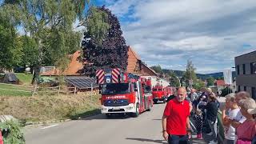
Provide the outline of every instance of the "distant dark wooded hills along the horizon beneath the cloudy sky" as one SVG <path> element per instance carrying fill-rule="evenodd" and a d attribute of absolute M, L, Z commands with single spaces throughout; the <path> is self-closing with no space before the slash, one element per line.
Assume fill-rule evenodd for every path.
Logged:
<path fill-rule="evenodd" d="M 169 73 L 170 71 L 173 71 L 178 77 L 182 77 L 182 75 L 185 73 L 185 71 L 182 70 L 162 70 L 164 73 Z M 232 71 L 233 78 L 236 77 L 236 72 Z M 197 74 L 197 77 L 205 80 L 206 78 L 213 77 L 213 78 L 221 78 L 223 77 L 223 73 L 212 73 L 212 74 Z"/>

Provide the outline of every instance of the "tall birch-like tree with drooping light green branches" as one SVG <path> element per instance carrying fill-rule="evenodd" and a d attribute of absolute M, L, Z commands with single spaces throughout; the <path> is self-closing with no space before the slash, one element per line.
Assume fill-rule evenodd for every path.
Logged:
<path fill-rule="evenodd" d="M 97 27 L 93 31 L 97 34 L 93 35 L 97 38 L 104 38 L 101 33 L 104 30 L 101 29 L 106 28 L 106 22 L 102 20 L 102 17 L 94 18 L 94 21 L 90 21 L 91 17 L 86 17 L 86 14 L 97 13 L 90 8 L 90 13 L 86 11 L 86 6 L 90 6 L 87 0 L 6 0 L 2 6 L 6 13 L 14 16 L 11 19 L 18 19 L 20 26 L 37 45 L 38 58 L 34 60 L 33 82 L 38 80 L 40 67 L 44 65 L 44 62 L 47 62 L 47 59 L 53 62 L 49 55 L 53 54 L 57 58 L 56 61 L 61 61 L 69 53 L 72 42 L 81 42 L 81 38 L 72 37 L 74 38 L 72 42 L 66 44 L 77 19 L 88 30 Z"/>

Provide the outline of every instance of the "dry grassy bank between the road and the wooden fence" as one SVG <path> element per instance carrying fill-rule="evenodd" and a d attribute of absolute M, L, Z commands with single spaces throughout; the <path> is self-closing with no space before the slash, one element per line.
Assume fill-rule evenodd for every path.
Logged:
<path fill-rule="evenodd" d="M 100 95 L 35 95 L 0 97 L 0 115 L 10 114 L 24 122 L 78 119 L 99 112 Z"/>

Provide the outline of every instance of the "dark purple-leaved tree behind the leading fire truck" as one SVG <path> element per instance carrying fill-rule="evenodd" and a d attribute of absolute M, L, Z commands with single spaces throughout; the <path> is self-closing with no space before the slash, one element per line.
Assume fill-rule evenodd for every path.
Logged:
<path fill-rule="evenodd" d="M 87 75 L 94 76 L 95 71 L 98 69 L 121 68 L 126 70 L 128 46 L 126 46 L 125 38 L 122 37 L 118 18 L 104 6 L 99 7 L 97 11 L 107 14 L 110 28 L 107 30 L 102 42 L 98 42 L 91 30 L 85 32 L 85 37 L 82 41 L 84 61 L 86 62 L 84 72 Z"/>

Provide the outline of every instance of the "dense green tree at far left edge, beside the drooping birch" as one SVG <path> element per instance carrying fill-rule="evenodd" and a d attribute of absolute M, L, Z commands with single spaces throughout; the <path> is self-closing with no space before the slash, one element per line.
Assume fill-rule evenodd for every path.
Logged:
<path fill-rule="evenodd" d="M 14 24 L 0 7 L 0 69 L 11 70 L 20 64 L 21 45 Z"/>

